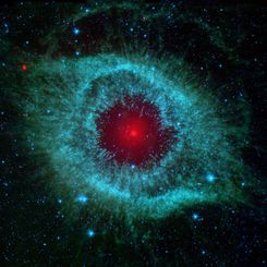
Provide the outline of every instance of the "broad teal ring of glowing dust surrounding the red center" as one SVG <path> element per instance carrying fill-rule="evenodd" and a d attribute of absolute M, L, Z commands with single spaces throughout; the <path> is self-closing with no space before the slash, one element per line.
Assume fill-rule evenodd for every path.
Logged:
<path fill-rule="evenodd" d="M 230 145 L 239 128 L 221 119 L 215 98 L 187 78 L 182 61 L 141 54 L 46 60 L 36 63 L 25 86 L 26 135 L 36 155 L 48 157 L 54 191 L 68 192 L 73 207 L 84 195 L 117 215 L 162 218 L 195 204 L 244 201 L 238 186 L 244 179 L 236 149 L 242 144 Z M 158 107 L 177 142 L 150 168 L 108 165 L 112 155 L 99 146 L 96 121 L 124 96 L 136 95 Z"/>

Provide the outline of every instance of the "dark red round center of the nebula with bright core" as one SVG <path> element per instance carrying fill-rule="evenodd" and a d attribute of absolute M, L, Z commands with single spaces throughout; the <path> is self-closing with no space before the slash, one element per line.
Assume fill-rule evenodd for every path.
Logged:
<path fill-rule="evenodd" d="M 147 167 L 159 161 L 175 141 L 173 128 L 163 128 L 159 109 L 143 96 L 125 96 L 99 113 L 99 146 L 121 165 Z"/>

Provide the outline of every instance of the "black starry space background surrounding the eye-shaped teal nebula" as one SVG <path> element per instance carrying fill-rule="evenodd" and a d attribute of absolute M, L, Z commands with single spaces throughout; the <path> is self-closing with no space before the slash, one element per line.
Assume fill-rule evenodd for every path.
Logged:
<path fill-rule="evenodd" d="M 266 266 L 266 7 L 129 1 L 123 10 L 116 4 L 99 8 L 68 22 L 94 4 L 17 2 L 0 8 L 0 266 Z M 144 9 L 149 16 L 141 20 Z M 197 75 L 211 77 L 210 87 L 223 86 L 227 105 L 240 94 L 241 84 L 252 107 L 251 146 L 243 157 L 260 193 L 248 192 L 250 206 L 199 206 L 202 220 L 173 215 L 144 223 L 143 232 L 156 229 L 149 241 L 138 236 L 133 242 L 119 222 L 107 231 L 97 229 L 93 239 L 85 236 L 82 218 L 66 223 L 68 215 L 50 196 L 51 185 L 38 174 L 40 162 L 14 131 L 24 114 L 9 90 L 22 65 L 31 70 L 32 57 L 44 56 L 54 40 L 52 58 L 97 54 L 104 43 L 119 49 L 122 41 L 184 57 Z"/>

